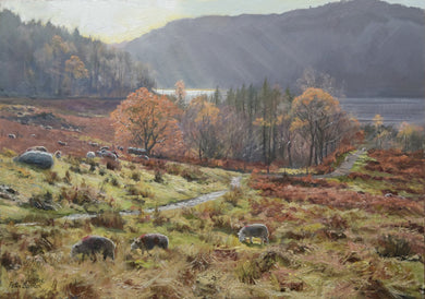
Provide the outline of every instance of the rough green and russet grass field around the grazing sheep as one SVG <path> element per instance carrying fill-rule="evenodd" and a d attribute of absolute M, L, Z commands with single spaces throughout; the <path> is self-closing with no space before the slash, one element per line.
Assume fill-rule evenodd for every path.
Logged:
<path fill-rule="evenodd" d="M 36 130 L 26 127 L 16 128 Z M 352 174 L 332 179 L 130 158 L 111 170 L 74 154 L 89 150 L 87 141 L 107 143 L 106 133 L 52 131 L 75 140 L 50 170 L 13 162 L 28 146 L 24 137 L 0 139 L 0 298 L 423 297 L 423 153 L 369 151 Z M 37 143 L 48 140 L 40 134 Z M 143 213 L 227 190 L 239 176 L 241 187 L 219 200 Z M 62 217 L 75 213 L 99 215 Z M 239 241 L 239 229 L 253 223 L 267 225 L 268 244 Z M 130 250 L 133 238 L 154 231 L 169 237 L 168 250 Z M 116 242 L 114 261 L 70 258 L 89 235 Z"/>

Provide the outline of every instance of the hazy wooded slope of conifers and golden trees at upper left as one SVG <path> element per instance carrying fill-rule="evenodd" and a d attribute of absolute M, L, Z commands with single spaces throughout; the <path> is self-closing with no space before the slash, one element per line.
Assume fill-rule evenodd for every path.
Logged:
<path fill-rule="evenodd" d="M 155 85 L 142 62 L 77 29 L 23 23 L 4 10 L 0 40 L 0 95 L 125 97 Z"/>

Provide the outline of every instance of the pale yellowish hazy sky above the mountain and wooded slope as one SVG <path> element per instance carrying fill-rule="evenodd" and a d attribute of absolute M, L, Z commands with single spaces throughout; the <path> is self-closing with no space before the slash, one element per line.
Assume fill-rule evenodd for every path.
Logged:
<path fill-rule="evenodd" d="M 0 0 L 23 21 L 50 21 L 69 29 L 78 27 L 84 36 L 107 43 L 130 40 L 181 17 L 242 13 L 282 13 L 317 7 L 330 0 Z M 425 8 L 424 0 L 388 0 Z"/>

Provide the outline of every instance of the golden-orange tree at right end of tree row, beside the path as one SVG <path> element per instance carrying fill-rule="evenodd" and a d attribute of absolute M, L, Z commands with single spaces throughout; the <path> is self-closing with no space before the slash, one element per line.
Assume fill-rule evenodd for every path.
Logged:
<path fill-rule="evenodd" d="M 336 145 L 348 134 L 357 131 L 341 110 L 339 101 L 320 88 L 307 88 L 292 103 L 294 121 L 291 129 L 298 130 L 309 143 L 308 166 L 319 164 L 327 155 L 328 146 Z"/>

